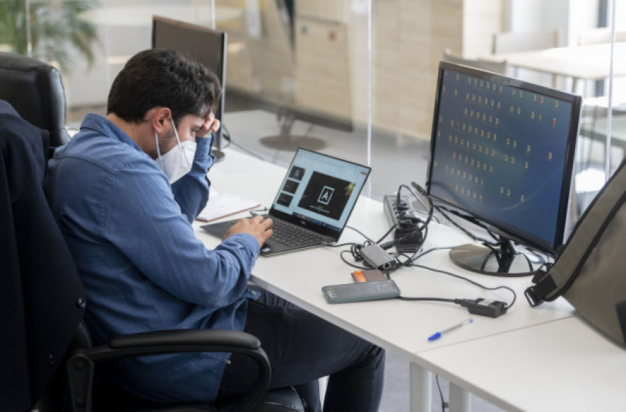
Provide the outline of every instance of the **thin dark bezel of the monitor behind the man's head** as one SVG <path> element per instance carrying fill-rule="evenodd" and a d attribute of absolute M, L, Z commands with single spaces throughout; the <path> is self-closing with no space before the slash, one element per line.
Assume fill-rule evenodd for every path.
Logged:
<path fill-rule="evenodd" d="M 226 45 L 227 45 L 227 33 L 225 31 L 217 31 L 208 27 L 200 26 L 198 24 L 183 22 L 182 20 L 170 19 L 168 17 L 163 16 L 152 16 L 152 48 L 169 48 L 169 47 L 161 47 L 155 44 L 157 42 L 157 25 L 158 24 L 166 24 L 170 27 L 182 28 L 187 31 L 195 31 L 198 33 L 204 33 L 209 35 L 214 35 L 217 38 L 220 38 L 220 47 L 221 47 L 221 64 L 220 67 L 209 67 L 211 71 L 213 71 L 218 80 L 220 81 L 220 89 L 221 89 L 221 97 L 218 101 L 216 107 L 215 117 L 220 120 L 222 126 L 218 131 L 214 133 L 215 141 L 214 148 L 215 149 L 223 149 L 224 148 L 224 101 L 226 98 Z M 193 56 L 191 56 L 193 57 Z M 217 73 L 216 70 L 219 69 L 220 72 Z"/>

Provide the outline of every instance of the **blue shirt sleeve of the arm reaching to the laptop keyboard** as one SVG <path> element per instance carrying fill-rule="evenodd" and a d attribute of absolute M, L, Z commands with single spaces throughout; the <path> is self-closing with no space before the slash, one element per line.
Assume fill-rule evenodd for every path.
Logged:
<path fill-rule="evenodd" d="M 195 237 L 156 163 L 134 159 L 115 174 L 100 213 L 103 236 L 178 299 L 227 306 L 246 289 L 259 243 L 246 233 L 210 250 Z"/>

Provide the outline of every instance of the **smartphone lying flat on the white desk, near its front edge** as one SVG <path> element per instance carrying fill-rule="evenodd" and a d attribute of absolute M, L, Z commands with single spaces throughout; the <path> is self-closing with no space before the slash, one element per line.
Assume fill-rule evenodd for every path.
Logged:
<path fill-rule="evenodd" d="M 326 298 L 326 302 L 339 304 L 398 297 L 400 296 L 400 289 L 394 281 L 386 279 L 383 281 L 324 286 L 322 293 Z"/>

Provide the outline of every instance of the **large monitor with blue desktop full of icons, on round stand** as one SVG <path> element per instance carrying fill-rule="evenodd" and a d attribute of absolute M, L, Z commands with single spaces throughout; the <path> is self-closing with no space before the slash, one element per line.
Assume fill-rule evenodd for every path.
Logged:
<path fill-rule="evenodd" d="M 581 97 L 441 62 L 426 187 L 433 203 L 494 233 L 497 245 L 451 249 L 460 267 L 532 272 L 515 244 L 563 243 Z"/>

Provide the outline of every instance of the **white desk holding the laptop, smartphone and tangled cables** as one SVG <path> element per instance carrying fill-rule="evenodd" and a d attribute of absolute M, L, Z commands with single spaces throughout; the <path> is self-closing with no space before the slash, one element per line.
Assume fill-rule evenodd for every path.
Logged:
<path fill-rule="evenodd" d="M 284 169 L 262 162 L 250 156 L 226 150 L 225 159 L 209 173 L 209 179 L 220 192 L 232 192 L 257 199 L 268 205 L 280 186 Z M 219 240 L 199 229 L 201 222 L 195 222 L 196 235 L 207 247 L 214 247 Z M 388 229 L 379 201 L 361 197 L 348 222 L 371 238 L 379 238 Z M 364 239 L 346 229 L 339 242 L 362 242 Z M 425 249 L 435 245 L 458 245 L 469 239 L 448 226 L 433 224 L 428 233 Z M 517 292 L 517 303 L 501 318 L 491 319 L 474 316 L 474 323 L 463 327 L 444 338 L 428 342 L 427 337 L 435 331 L 468 318 L 465 308 L 454 304 L 403 302 L 390 299 L 378 302 L 335 304 L 326 302 L 321 287 L 335 283 L 350 283 L 352 268 L 339 258 L 339 249 L 319 247 L 289 254 L 261 257 L 252 269 L 252 281 L 285 299 L 307 309 L 321 318 L 333 322 L 352 333 L 370 340 L 387 350 L 412 362 L 411 367 L 411 410 L 431 410 L 431 374 L 433 368 L 419 354 L 435 348 L 456 347 L 460 344 L 495 336 L 500 333 L 544 324 L 572 315 L 572 308 L 563 300 L 530 308 L 523 301 L 523 291 L 529 286 L 528 278 L 500 279 L 470 274 L 458 269 L 447 257 L 447 251 L 433 252 L 420 263 L 432 265 L 442 270 L 465 274 L 487 286 L 505 284 Z M 465 281 L 437 274 L 427 270 L 412 268 L 394 273 L 403 295 L 449 298 L 485 297 L 510 301 L 506 291 L 487 292 Z M 459 398 L 467 401 L 462 386 L 453 388 Z M 454 402 L 453 402 L 454 403 Z M 455 406 L 456 407 L 456 406 Z M 465 403 L 458 404 L 464 409 Z"/>

